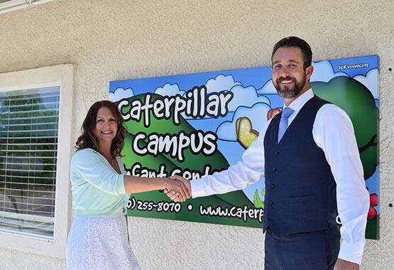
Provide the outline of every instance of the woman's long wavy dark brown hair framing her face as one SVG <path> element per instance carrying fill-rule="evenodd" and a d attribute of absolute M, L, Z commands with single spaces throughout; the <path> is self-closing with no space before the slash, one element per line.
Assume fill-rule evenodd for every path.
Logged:
<path fill-rule="evenodd" d="M 96 127 L 97 112 L 99 112 L 99 109 L 102 107 L 106 107 L 111 111 L 115 117 L 116 123 L 118 124 L 118 131 L 116 132 L 116 136 L 112 140 L 111 144 L 111 153 L 114 157 L 121 156 L 121 148 L 124 146 L 126 129 L 123 126 L 123 117 L 121 116 L 121 112 L 119 112 L 116 104 L 109 100 L 94 102 L 94 104 L 89 108 L 81 127 L 82 135 L 78 137 L 77 142 L 75 143 L 75 148 L 77 148 L 77 151 L 84 148 L 92 148 L 97 152 L 99 151 L 99 144 L 97 142 L 97 138 L 94 136 L 94 129 Z"/>

